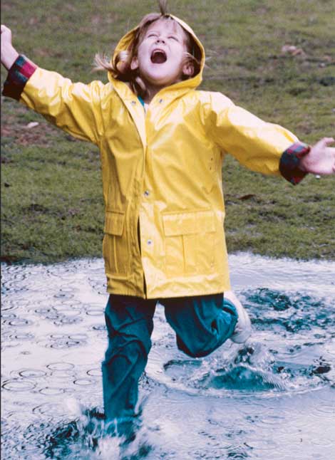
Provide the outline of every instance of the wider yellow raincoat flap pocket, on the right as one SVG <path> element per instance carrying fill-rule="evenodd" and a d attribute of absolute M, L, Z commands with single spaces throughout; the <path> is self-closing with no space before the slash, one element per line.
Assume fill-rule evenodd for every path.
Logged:
<path fill-rule="evenodd" d="M 165 272 L 168 276 L 215 271 L 215 214 L 193 211 L 163 214 Z"/>

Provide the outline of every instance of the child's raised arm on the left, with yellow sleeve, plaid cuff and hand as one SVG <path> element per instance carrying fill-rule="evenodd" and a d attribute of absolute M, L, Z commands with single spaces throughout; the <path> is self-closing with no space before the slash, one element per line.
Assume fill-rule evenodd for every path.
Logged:
<path fill-rule="evenodd" d="M 36 66 L 17 53 L 6 26 L 1 26 L 1 63 L 9 70 L 3 95 L 19 100 L 78 139 L 100 142 L 104 130 L 101 100 L 108 99 L 110 85 L 73 83 Z"/>

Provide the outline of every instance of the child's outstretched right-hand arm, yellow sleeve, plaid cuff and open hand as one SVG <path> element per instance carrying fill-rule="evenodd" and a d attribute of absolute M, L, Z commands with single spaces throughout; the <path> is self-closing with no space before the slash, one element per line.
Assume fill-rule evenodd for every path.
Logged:
<path fill-rule="evenodd" d="M 307 173 L 335 173 L 331 137 L 306 145 L 289 130 L 260 120 L 220 93 L 211 93 L 204 119 L 208 137 L 253 171 L 282 174 L 292 184 Z"/>

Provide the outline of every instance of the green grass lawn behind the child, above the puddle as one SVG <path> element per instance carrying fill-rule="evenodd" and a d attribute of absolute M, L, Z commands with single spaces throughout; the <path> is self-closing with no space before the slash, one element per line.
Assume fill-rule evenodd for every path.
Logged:
<path fill-rule="evenodd" d="M 91 73 L 97 51 L 111 53 L 155 1 L 3 0 L 2 22 L 18 51 L 73 80 Z M 170 0 L 207 50 L 202 89 L 221 91 L 259 117 L 313 143 L 334 135 L 333 0 Z M 285 44 L 301 48 L 292 56 Z M 6 72 L 1 70 L 1 78 Z M 29 122 L 38 126 L 28 129 Z M 99 152 L 2 98 L 3 261 L 100 256 L 103 200 Z M 230 252 L 334 260 L 334 178 L 297 187 L 244 169 L 223 168 Z"/>

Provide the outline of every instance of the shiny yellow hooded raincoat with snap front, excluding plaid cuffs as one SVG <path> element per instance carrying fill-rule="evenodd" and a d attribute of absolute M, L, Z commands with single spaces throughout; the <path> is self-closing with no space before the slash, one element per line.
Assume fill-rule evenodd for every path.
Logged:
<path fill-rule="evenodd" d="M 100 148 L 108 292 L 142 298 L 230 289 L 222 160 L 279 175 L 297 137 L 259 120 L 221 93 L 197 90 L 201 71 L 155 95 L 145 114 L 126 83 L 72 83 L 37 68 L 21 94 L 29 108 Z M 128 48 L 136 29 L 115 50 Z"/>

